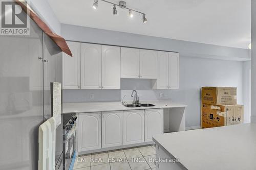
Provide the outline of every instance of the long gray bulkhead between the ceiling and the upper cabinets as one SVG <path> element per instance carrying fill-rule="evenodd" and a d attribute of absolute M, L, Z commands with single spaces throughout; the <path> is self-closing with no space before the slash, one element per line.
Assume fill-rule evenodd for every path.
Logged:
<path fill-rule="evenodd" d="M 215 58 L 237 61 L 250 60 L 250 51 L 242 48 L 232 48 L 219 45 L 93 29 L 88 27 L 61 24 L 61 35 L 66 40 L 174 51 L 179 52 L 182 56 L 186 57 Z"/>

